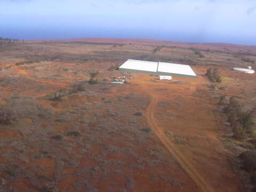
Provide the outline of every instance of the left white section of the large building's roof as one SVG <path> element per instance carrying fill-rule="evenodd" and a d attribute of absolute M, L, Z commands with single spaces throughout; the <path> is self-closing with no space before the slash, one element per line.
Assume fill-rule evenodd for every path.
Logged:
<path fill-rule="evenodd" d="M 119 68 L 156 72 L 157 62 L 129 59 Z"/>

